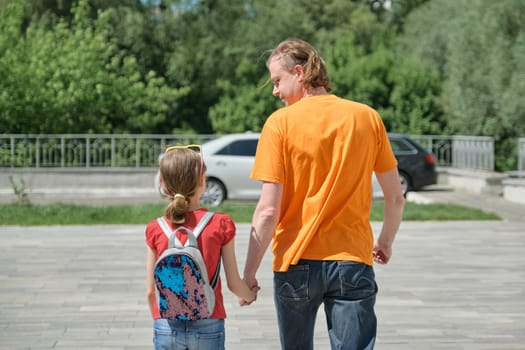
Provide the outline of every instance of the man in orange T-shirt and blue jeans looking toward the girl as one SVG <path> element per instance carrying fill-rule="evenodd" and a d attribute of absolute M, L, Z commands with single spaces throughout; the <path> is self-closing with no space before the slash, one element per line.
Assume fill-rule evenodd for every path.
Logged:
<path fill-rule="evenodd" d="M 404 207 L 397 161 L 379 114 L 329 94 L 326 65 L 307 42 L 280 43 L 267 60 L 285 107 L 266 121 L 251 177 L 263 182 L 244 279 L 273 238 L 274 295 L 282 349 L 313 349 L 321 304 L 332 349 L 372 349 L 377 285 Z M 369 223 L 372 173 L 383 189 L 378 238 Z"/>

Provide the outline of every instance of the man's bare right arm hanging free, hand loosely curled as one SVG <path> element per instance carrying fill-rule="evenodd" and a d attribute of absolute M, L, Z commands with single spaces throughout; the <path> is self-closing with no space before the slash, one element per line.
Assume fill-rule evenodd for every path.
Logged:
<path fill-rule="evenodd" d="M 392 256 L 392 244 L 396 236 L 405 206 L 401 180 L 397 168 L 377 174 L 377 181 L 383 190 L 385 208 L 381 233 L 374 243 L 374 261 L 386 264 Z"/>

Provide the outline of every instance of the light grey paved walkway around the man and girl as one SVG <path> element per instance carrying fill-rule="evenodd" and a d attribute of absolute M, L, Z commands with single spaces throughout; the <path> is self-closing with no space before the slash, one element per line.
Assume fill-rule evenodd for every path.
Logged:
<path fill-rule="evenodd" d="M 402 224 L 391 263 L 376 266 L 376 349 L 525 348 L 525 223 L 512 220 L 524 206 L 512 208 L 503 221 Z M 239 266 L 248 230 L 238 225 Z M 0 226 L 0 349 L 150 349 L 143 231 Z M 227 349 L 279 348 L 270 259 L 253 305 L 223 291 Z M 322 316 L 316 349 L 329 349 Z"/>

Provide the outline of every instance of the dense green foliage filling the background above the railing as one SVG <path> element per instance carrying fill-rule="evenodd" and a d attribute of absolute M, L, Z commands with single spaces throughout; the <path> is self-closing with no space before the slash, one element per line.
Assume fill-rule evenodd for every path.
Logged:
<path fill-rule="evenodd" d="M 258 131 L 287 37 L 390 131 L 525 134 L 521 0 L 0 0 L 1 133 Z"/>

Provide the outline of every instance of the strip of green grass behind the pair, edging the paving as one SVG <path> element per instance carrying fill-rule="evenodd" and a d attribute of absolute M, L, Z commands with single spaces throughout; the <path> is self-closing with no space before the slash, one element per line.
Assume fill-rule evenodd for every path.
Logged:
<path fill-rule="evenodd" d="M 111 206 L 4 204 L 0 205 L 0 225 L 145 225 L 162 215 L 164 207 L 164 204 Z M 249 223 L 254 209 L 254 203 L 224 203 L 212 210 L 230 214 L 235 222 Z M 382 213 L 383 202 L 374 202 L 370 219 L 381 221 Z M 501 218 L 492 213 L 459 205 L 407 202 L 403 220 L 501 220 Z"/>

